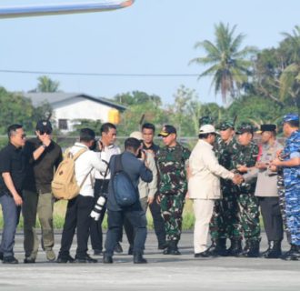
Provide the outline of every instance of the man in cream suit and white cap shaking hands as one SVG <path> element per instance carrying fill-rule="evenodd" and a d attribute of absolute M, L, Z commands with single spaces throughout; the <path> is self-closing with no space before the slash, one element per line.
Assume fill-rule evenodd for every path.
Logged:
<path fill-rule="evenodd" d="M 195 230 L 194 250 L 195 257 L 210 256 L 208 252 L 209 223 L 213 216 L 215 199 L 220 199 L 220 177 L 241 183 L 242 177 L 219 165 L 213 145 L 215 143 L 213 125 L 203 125 L 199 131 L 199 141 L 189 158 L 190 176 L 188 181 L 189 197 L 194 203 Z"/>

